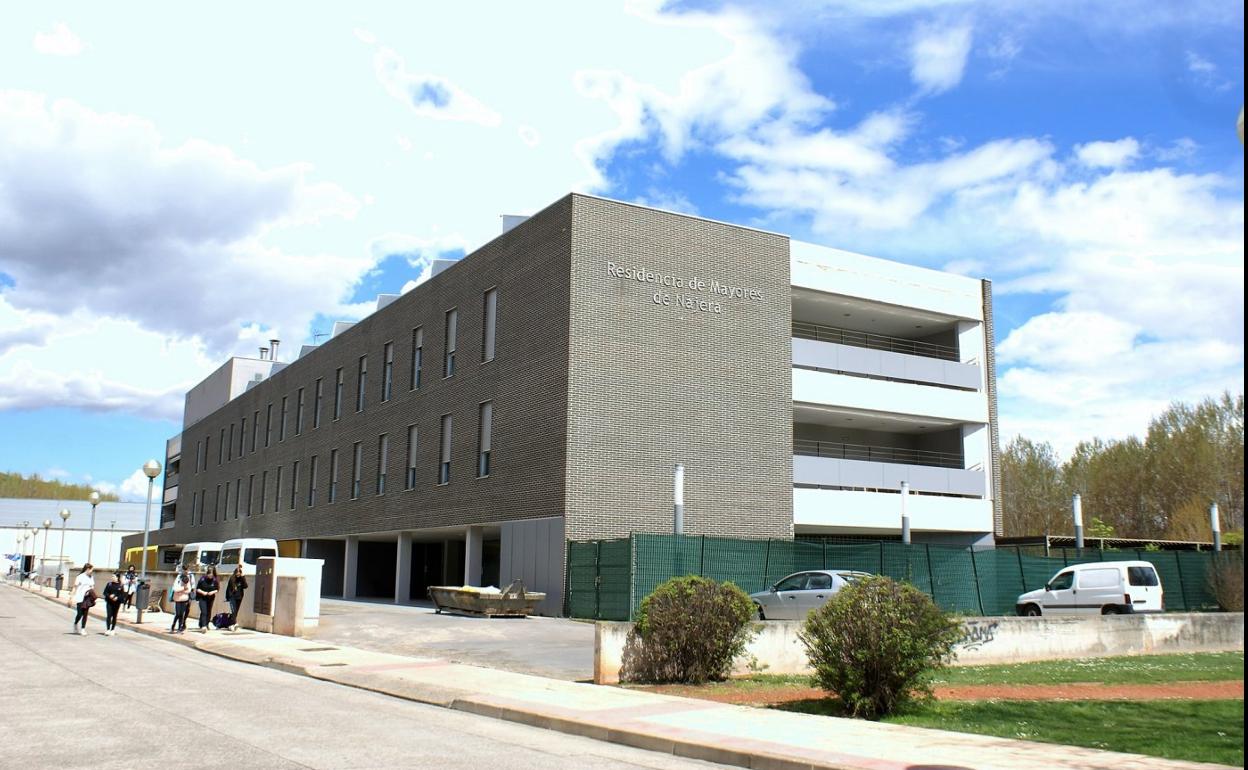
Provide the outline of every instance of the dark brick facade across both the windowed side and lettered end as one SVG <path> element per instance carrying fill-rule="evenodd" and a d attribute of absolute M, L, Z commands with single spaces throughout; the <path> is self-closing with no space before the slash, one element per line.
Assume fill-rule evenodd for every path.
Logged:
<path fill-rule="evenodd" d="M 608 273 L 608 262 L 688 281 L 664 287 Z M 723 296 L 711 281 L 754 296 Z M 498 291 L 497 352 L 482 362 L 483 297 Z M 670 305 L 656 305 L 655 291 Z M 693 298 L 691 309 L 675 305 Z M 660 302 L 663 298 L 660 297 Z M 699 302 L 706 305 L 698 306 Z M 715 312 L 718 306 L 719 312 Z M 442 377 L 444 318 L 458 308 L 456 374 Z M 408 388 L 412 332 L 423 328 L 422 384 Z M 366 317 L 183 432 L 173 528 L 155 544 L 367 535 L 543 517 L 567 517 L 583 539 L 671 527 L 671 464 L 686 475 L 686 532 L 790 537 L 792 532 L 789 247 L 782 236 L 674 213 L 568 196 L 453 267 Z M 382 402 L 383 349 L 393 343 L 392 398 Z M 356 374 L 367 356 L 366 407 Z M 332 418 L 343 371 L 342 416 Z M 313 428 L 316 381 L 323 383 Z M 295 436 L 298 389 L 303 429 Z M 288 427 L 278 441 L 281 401 Z M 478 407 L 493 401 L 488 478 L 477 478 Z M 265 414 L 273 408 L 272 439 Z M 260 439 L 251 431 L 260 412 Z M 439 423 L 454 418 L 451 482 L 438 484 Z M 240 436 L 242 419 L 247 433 Z M 418 426 L 417 482 L 404 489 L 407 427 Z M 217 462 L 233 426 L 232 459 Z M 378 437 L 389 436 L 386 493 L 376 493 Z M 207 467 L 197 444 L 210 438 Z M 240 439 L 246 447 L 238 454 Z M 352 447 L 363 447 L 351 499 Z M 328 503 L 329 452 L 338 498 Z M 307 504 L 311 458 L 317 502 Z M 300 463 L 295 509 L 292 464 Z M 273 510 L 282 468 L 281 508 Z M 262 472 L 268 472 L 258 513 Z M 236 484 L 251 505 L 233 507 Z M 220 485 L 230 499 L 216 517 Z M 203 502 L 203 523 L 192 500 Z M 250 513 L 247 513 L 250 509 Z M 227 513 L 228 510 L 228 513 Z"/>

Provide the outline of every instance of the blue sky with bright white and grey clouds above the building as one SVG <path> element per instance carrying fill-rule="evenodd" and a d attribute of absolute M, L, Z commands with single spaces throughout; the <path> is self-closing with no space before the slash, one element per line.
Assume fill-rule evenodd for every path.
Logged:
<path fill-rule="evenodd" d="M 1243 391 L 1242 5 L 0 14 L 2 469 L 137 494 L 226 356 L 570 190 L 992 278 L 1006 438 Z"/>

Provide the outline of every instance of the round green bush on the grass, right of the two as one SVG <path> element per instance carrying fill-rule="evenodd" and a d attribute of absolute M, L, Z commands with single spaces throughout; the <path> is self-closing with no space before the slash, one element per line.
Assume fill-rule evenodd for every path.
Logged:
<path fill-rule="evenodd" d="M 811 612 L 797 636 L 815 683 L 851 715 L 879 719 L 931 695 L 931 674 L 952 659 L 962 628 L 912 585 L 872 577 Z"/>

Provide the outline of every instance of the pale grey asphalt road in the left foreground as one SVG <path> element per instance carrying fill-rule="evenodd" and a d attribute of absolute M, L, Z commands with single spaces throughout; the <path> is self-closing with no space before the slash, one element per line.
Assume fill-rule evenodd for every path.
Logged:
<path fill-rule="evenodd" d="M 0 765 L 706 770 L 286 674 L 89 621 L 0 585 Z"/>

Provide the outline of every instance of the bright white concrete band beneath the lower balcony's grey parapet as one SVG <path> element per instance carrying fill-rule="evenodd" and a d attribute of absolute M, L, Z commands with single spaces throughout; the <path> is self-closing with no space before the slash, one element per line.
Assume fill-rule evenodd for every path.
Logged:
<path fill-rule="evenodd" d="M 911 494 L 906 499 L 912 532 L 992 532 L 992 500 Z M 896 534 L 901 495 L 847 489 L 792 490 L 792 523 L 800 533 Z"/>

